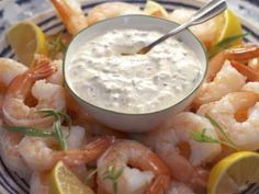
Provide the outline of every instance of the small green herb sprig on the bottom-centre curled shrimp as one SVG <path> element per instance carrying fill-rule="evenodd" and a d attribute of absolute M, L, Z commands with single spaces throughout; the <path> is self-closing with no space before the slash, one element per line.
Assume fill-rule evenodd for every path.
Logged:
<path fill-rule="evenodd" d="M 114 194 L 117 194 L 117 180 L 122 175 L 124 169 L 116 169 L 111 164 L 108 167 L 106 172 L 103 175 L 103 180 L 109 179 L 112 181 Z"/>

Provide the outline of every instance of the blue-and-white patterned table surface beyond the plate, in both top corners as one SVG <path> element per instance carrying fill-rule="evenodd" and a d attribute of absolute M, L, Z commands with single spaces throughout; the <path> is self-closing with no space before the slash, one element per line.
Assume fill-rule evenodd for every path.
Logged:
<path fill-rule="evenodd" d="M 259 26 L 259 0 L 226 1 L 239 16 L 248 19 L 251 23 L 258 23 Z M 0 0 L 0 35 L 11 24 L 48 9 L 52 9 L 50 0 Z"/>

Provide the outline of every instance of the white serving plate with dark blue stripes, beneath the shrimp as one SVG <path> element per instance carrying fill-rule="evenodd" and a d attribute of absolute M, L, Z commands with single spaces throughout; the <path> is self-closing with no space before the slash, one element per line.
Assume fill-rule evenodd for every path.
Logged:
<path fill-rule="evenodd" d="M 109 0 L 115 1 L 115 0 Z M 92 7 L 105 2 L 104 0 L 87 0 L 82 2 L 82 9 L 87 13 Z M 144 7 L 146 0 L 124 0 L 124 2 L 135 3 Z M 201 0 L 158 0 L 169 12 L 176 8 L 199 9 L 203 1 Z M 249 9 L 249 8 L 246 8 Z M 35 15 L 30 19 L 43 28 L 46 34 L 53 34 L 65 31 L 64 25 L 56 15 L 54 10 L 48 10 L 42 14 Z M 241 18 L 243 27 L 245 32 L 249 32 L 246 36 L 247 42 L 259 42 L 259 30 L 256 23 Z M 4 37 L 0 38 L 0 57 L 15 58 L 10 45 Z M 0 158 L 0 194 L 29 194 L 29 183 L 19 178 L 15 173 L 8 170 L 2 159 Z"/>

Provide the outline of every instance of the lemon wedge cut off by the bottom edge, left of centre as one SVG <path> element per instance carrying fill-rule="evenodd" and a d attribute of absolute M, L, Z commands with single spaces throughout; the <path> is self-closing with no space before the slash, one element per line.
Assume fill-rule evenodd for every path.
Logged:
<path fill-rule="evenodd" d="M 50 173 L 50 194 L 94 194 L 61 161 Z"/>

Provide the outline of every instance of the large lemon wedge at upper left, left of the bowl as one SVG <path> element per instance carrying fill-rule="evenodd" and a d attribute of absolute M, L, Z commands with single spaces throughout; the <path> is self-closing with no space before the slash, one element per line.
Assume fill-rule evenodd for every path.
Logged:
<path fill-rule="evenodd" d="M 34 54 L 47 55 L 47 44 L 43 31 L 33 22 L 20 22 L 7 32 L 7 38 L 18 59 L 30 66 Z"/>

